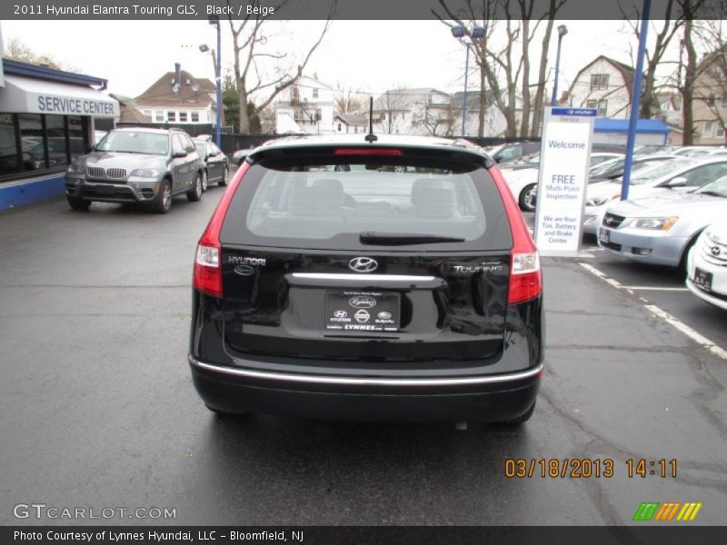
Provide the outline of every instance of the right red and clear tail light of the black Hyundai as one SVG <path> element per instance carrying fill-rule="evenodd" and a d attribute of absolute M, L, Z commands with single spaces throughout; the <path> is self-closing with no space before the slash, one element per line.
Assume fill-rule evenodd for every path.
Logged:
<path fill-rule="evenodd" d="M 510 221 L 510 231 L 513 233 L 507 304 L 530 301 L 543 292 L 543 275 L 538 249 L 535 247 L 533 237 L 530 236 L 520 207 L 515 203 L 513 193 L 503 179 L 503 174 L 496 166 L 490 169 L 490 174 L 503 198 L 505 213 Z"/>

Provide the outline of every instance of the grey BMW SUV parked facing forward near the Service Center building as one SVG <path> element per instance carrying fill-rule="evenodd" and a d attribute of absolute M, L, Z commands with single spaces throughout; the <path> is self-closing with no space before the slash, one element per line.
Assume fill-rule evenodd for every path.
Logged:
<path fill-rule="evenodd" d="M 120 128 L 65 171 L 65 193 L 74 210 L 93 201 L 144 203 L 167 213 L 174 195 L 202 198 L 204 163 L 180 129 Z"/>

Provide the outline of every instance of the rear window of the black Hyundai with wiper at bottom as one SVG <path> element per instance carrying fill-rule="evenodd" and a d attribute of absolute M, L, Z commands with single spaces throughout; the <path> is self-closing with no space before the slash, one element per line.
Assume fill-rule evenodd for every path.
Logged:
<path fill-rule="evenodd" d="M 396 244 L 413 251 L 512 245 L 485 169 L 402 161 L 256 164 L 235 193 L 222 234 L 227 243 L 289 248 L 371 248 L 397 235 L 422 235 L 423 242 Z"/>

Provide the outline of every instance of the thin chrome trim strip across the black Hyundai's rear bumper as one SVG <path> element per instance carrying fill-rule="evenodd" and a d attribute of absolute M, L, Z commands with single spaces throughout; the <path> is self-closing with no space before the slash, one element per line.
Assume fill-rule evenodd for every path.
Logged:
<path fill-rule="evenodd" d="M 270 381 L 292 381 L 308 384 L 339 384 L 347 386 L 467 386 L 472 384 L 493 384 L 497 382 L 520 381 L 529 379 L 543 372 L 543 363 L 529 371 L 513 372 L 506 375 L 459 377 L 452 379 L 359 379 L 354 377 L 331 377 L 323 375 L 302 375 L 283 372 L 249 371 L 234 369 L 195 360 L 188 356 L 190 365 L 206 371 L 221 372 L 224 374 L 251 379 L 265 379 Z"/>

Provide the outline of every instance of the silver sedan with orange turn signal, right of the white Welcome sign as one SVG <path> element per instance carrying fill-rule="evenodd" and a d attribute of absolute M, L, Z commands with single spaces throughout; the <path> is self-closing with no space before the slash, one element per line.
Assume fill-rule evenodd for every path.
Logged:
<path fill-rule="evenodd" d="M 615 203 L 598 230 L 598 245 L 632 261 L 685 267 L 702 230 L 727 212 L 727 175 L 692 193 Z"/>

